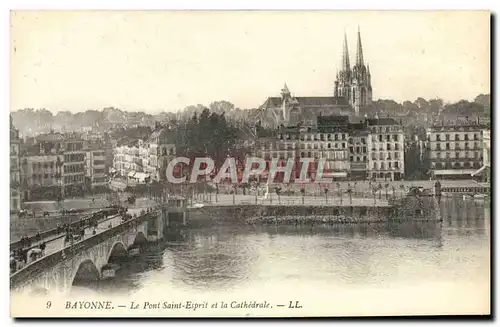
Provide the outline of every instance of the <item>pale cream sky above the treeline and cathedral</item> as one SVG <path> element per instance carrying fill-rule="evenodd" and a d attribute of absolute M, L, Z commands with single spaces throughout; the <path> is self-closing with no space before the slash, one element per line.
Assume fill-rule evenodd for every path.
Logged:
<path fill-rule="evenodd" d="M 12 11 L 10 109 L 157 113 L 227 100 L 331 96 L 358 27 L 373 99 L 490 93 L 481 11 Z"/>

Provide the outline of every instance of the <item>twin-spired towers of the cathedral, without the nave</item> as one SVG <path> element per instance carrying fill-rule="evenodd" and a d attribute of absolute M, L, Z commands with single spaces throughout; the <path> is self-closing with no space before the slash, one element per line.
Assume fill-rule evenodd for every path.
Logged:
<path fill-rule="evenodd" d="M 342 70 L 335 81 L 334 95 L 344 97 L 354 108 L 356 116 L 360 108 L 372 103 L 372 86 L 370 68 L 366 66 L 363 58 L 361 32 L 358 27 L 356 47 L 356 62 L 352 69 L 349 66 L 349 52 L 347 50 L 347 37 L 344 34 L 344 47 L 342 51 Z"/>

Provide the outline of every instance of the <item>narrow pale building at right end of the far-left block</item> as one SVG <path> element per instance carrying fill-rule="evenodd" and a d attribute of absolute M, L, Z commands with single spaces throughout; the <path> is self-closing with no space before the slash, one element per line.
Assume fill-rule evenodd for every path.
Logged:
<path fill-rule="evenodd" d="M 84 150 L 86 188 L 91 189 L 92 192 L 107 189 L 108 177 L 105 169 L 104 143 L 100 141 L 86 142 Z"/>

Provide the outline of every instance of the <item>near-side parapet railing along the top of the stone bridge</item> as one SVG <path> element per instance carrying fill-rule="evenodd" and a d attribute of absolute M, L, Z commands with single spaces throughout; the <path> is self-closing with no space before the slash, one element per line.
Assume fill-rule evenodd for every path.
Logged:
<path fill-rule="evenodd" d="M 132 218 L 102 233 L 93 235 L 80 242 L 74 243 L 73 245 L 64 247 L 57 252 L 41 257 L 37 261 L 23 267 L 22 269 L 12 274 L 10 276 L 10 288 L 15 289 L 17 286 L 22 285 L 27 280 L 34 279 L 36 276 L 42 274 L 43 271 L 47 268 L 53 267 L 63 260 L 70 259 L 79 252 L 88 250 L 110 237 L 119 235 L 129 230 L 130 228 L 141 224 L 155 214 L 158 214 L 158 212 L 150 212 L 137 218 Z"/>

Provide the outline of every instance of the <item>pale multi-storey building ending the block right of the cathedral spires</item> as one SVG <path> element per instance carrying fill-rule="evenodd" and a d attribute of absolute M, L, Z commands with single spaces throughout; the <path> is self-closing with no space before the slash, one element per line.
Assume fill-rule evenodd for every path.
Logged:
<path fill-rule="evenodd" d="M 404 177 L 403 126 L 392 118 L 368 118 L 372 180 L 399 181 Z"/>

